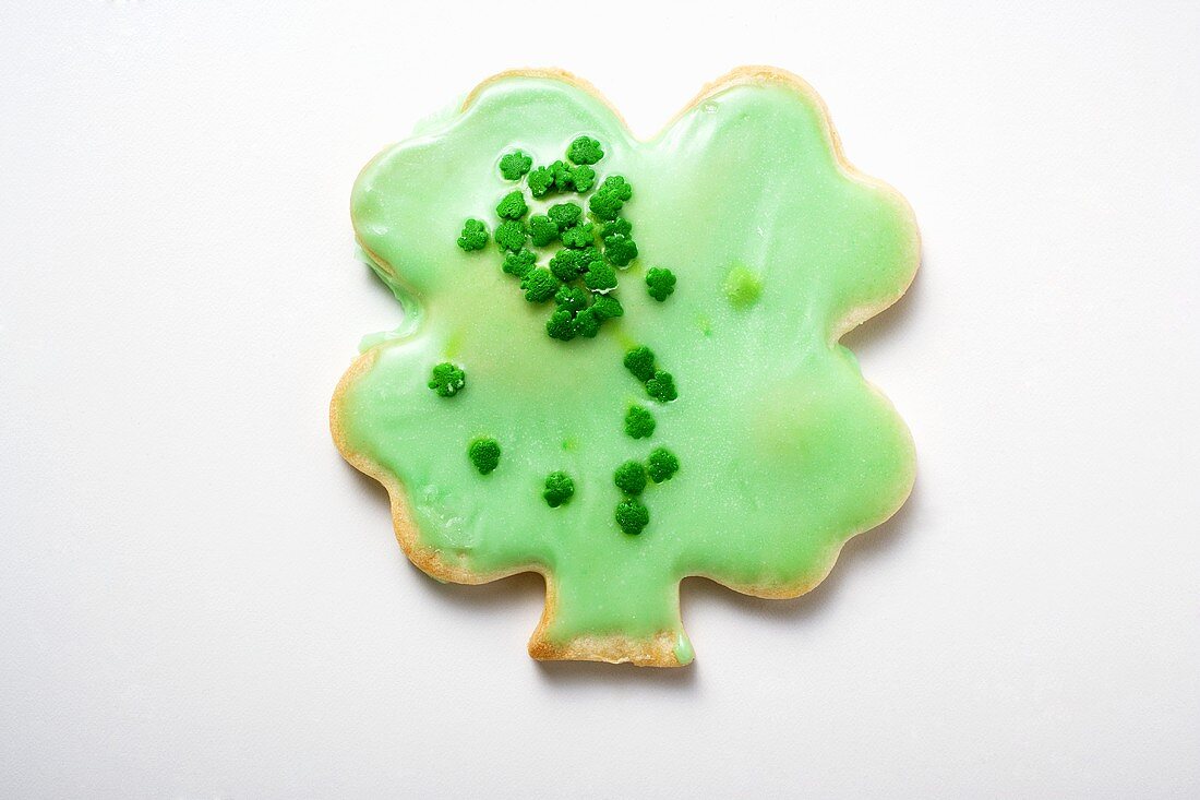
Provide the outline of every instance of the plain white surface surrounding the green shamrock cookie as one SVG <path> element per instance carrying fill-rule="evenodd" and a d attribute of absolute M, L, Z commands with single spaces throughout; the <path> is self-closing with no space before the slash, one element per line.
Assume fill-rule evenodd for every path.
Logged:
<path fill-rule="evenodd" d="M 0 795 L 1200 793 L 1200 8 L 704 5 L 4 4 Z M 685 581 L 689 669 L 540 665 L 330 443 L 352 181 L 502 68 L 649 135 L 744 62 L 917 210 L 848 338 L 917 489 L 798 601 Z"/>

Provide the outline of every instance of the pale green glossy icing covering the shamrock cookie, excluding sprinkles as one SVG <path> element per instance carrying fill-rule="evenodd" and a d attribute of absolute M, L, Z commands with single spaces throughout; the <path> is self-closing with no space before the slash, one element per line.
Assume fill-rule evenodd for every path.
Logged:
<path fill-rule="evenodd" d="M 514 186 L 496 169 L 500 155 L 520 147 L 548 163 L 581 133 L 604 144 L 601 178 L 634 186 L 624 216 L 641 258 L 620 273 L 620 324 L 564 344 L 544 329 L 553 306 L 522 299 L 493 244 L 464 253 L 455 240 L 468 216 L 494 229 L 496 202 Z M 476 579 L 547 573 L 552 645 L 666 633 L 686 663 L 680 578 L 796 595 L 907 496 L 908 432 L 835 339 L 902 293 L 916 227 L 892 190 L 839 166 L 820 107 L 796 84 L 731 85 L 641 143 L 574 85 L 504 78 L 377 157 L 355 185 L 353 216 L 416 316 L 347 383 L 335 434 L 404 486 L 422 554 Z M 650 265 L 678 276 L 666 303 L 646 293 Z M 731 280 L 736 298 L 760 281 L 757 298 L 731 303 Z M 678 401 L 646 398 L 622 366 L 631 344 L 673 372 Z M 446 359 L 467 371 L 449 400 L 426 388 Z M 623 432 L 632 401 L 655 414 L 649 440 Z M 476 436 L 504 450 L 486 477 L 466 455 Z M 644 533 L 623 535 L 613 468 L 659 444 L 682 468 L 647 489 Z M 540 496 L 553 470 L 576 482 L 562 508 Z"/>

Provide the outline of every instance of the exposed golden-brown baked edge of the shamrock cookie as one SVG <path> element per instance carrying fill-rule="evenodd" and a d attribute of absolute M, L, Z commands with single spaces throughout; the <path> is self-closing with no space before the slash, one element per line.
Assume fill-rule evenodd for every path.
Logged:
<path fill-rule="evenodd" d="M 578 78 L 570 72 L 563 70 L 553 68 L 528 68 L 528 70 L 510 70 L 506 72 L 500 72 L 494 74 L 482 83 L 480 83 L 475 89 L 467 95 L 463 101 L 462 111 L 466 111 L 480 95 L 480 92 L 488 85 L 503 80 L 505 78 L 548 78 L 553 80 L 562 80 L 569 83 L 577 89 L 586 91 L 600 102 L 607 106 L 617 119 L 624 123 L 620 113 L 613 107 L 608 100 L 600 94 L 600 91 L 582 78 Z M 895 189 L 893 189 L 887 183 L 865 175 L 859 172 L 850 161 L 846 159 L 841 149 L 841 139 L 838 136 L 836 130 L 833 126 L 833 121 L 829 118 L 829 109 L 826 107 L 824 101 L 816 92 L 812 86 L 810 86 L 799 76 L 792 74 L 785 70 L 779 70 L 776 67 L 769 66 L 742 66 L 732 70 L 727 74 L 712 83 L 707 84 L 700 92 L 686 103 L 679 113 L 677 113 L 671 120 L 664 126 L 664 130 L 673 125 L 678 119 L 680 119 L 689 111 L 704 102 L 707 98 L 720 94 L 732 86 L 748 84 L 748 83 L 779 83 L 785 84 L 797 91 L 800 95 L 808 97 L 812 105 L 817 108 L 822 123 L 824 125 L 826 136 L 829 139 L 830 147 L 833 149 L 834 156 L 836 159 L 839 168 L 842 173 L 857 183 L 875 187 L 887 197 L 889 197 L 896 207 L 912 221 L 912 229 L 917 232 L 916 219 L 912 213 L 912 208 L 908 202 L 900 195 Z M 628 125 L 626 125 L 628 127 Z M 361 240 L 359 243 L 362 245 Z M 366 246 L 364 250 L 366 250 Z M 396 270 L 388 264 L 385 261 L 379 258 L 376 253 L 367 251 L 382 269 L 384 269 L 389 275 L 395 276 Z M 862 324 L 864 321 L 871 318 L 880 311 L 883 311 L 893 303 L 900 299 L 911 285 L 912 279 L 916 276 L 917 267 L 920 258 L 920 238 L 919 232 L 913 238 L 912 249 L 910 252 L 910 259 L 912 262 L 912 270 L 908 281 L 905 286 L 890 298 L 886 298 L 877 304 L 863 306 L 854 309 L 841 321 L 839 326 L 835 326 L 834 336 L 832 342 L 838 341 L 846 332 L 853 329 L 854 327 Z M 830 344 L 832 344 L 830 342 Z M 486 584 L 493 580 L 499 580 L 502 578 L 508 578 L 509 575 L 515 575 L 522 572 L 535 572 L 542 575 L 546 581 L 546 605 L 542 610 L 541 620 L 538 622 L 538 627 L 534 629 L 533 635 L 529 639 L 529 655 L 539 661 L 601 661 L 608 663 L 632 663 L 640 667 L 679 667 L 680 662 L 676 656 L 676 634 L 670 631 L 660 632 L 659 634 L 647 638 L 647 639 L 635 639 L 631 637 L 622 635 L 606 635 L 606 637 L 578 637 L 566 644 L 556 644 L 546 638 L 546 631 L 554 620 L 554 615 L 558 609 L 558 592 L 554 586 L 553 575 L 548 574 L 545 568 L 539 565 L 526 565 L 520 567 L 514 567 L 512 569 L 497 571 L 492 573 L 479 573 L 473 572 L 461 563 L 452 563 L 446 561 L 440 553 L 432 548 L 426 548 L 421 545 L 420 537 L 418 536 L 416 524 L 413 521 L 412 513 L 408 507 L 408 498 L 404 491 L 404 486 L 401 482 L 379 464 L 371 460 L 366 454 L 355 450 L 350 447 L 347 441 L 346 430 L 341 424 L 341 405 L 342 399 L 349 390 L 350 384 L 362 374 L 371 369 L 378 357 L 379 351 L 377 348 L 368 350 L 354 360 L 350 368 L 342 376 L 338 382 L 336 390 L 334 392 L 334 398 L 330 402 L 329 408 L 329 422 L 330 430 L 334 436 L 334 443 L 336 444 L 338 452 L 354 468 L 378 480 L 388 490 L 388 497 L 391 503 L 391 519 L 392 526 L 396 531 L 396 541 L 400 543 L 401 549 L 404 555 L 408 556 L 418 568 L 420 568 L 426 574 L 431 575 L 437 580 L 444 580 L 456 584 Z M 881 398 L 880 393 L 874 386 L 870 387 Z M 899 496 L 892 512 L 883 519 L 874 523 L 871 525 L 864 526 L 862 530 L 856 531 L 851 536 L 846 537 L 845 541 L 850 541 L 854 536 L 882 525 L 887 521 L 896 511 L 904 506 L 905 501 L 912 490 L 913 482 L 916 479 L 916 470 L 908 476 L 907 488 Z M 740 592 L 743 595 L 750 595 L 754 597 L 763 597 L 768 599 L 787 599 L 799 597 L 805 592 L 810 591 L 817 586 L 829 572 L 833 569 L 838 561 L 838 556 L 841 553 L 845 541 L 835 548 L 832 548 L 828 556 L 827 563 L 816 575 L 808 575 L 803 580 L 797 581 L 792 586 L 774 586 L 774 585 L 744 585 L 726 581 L 713 575 L 707 575 L 703 573 L 695 573 L 695 577 L 707 578 L 714 583 L 718 583 L 727 589 Z"/>

